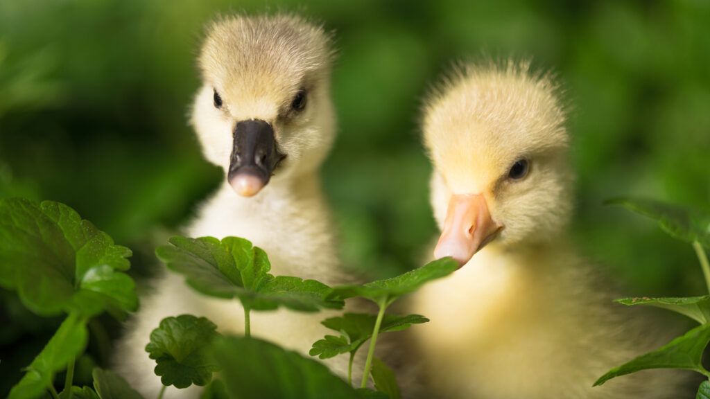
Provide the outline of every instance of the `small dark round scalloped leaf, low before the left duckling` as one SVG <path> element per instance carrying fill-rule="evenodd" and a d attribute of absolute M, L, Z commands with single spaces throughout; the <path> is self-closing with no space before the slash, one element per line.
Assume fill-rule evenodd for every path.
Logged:
<path fill-rule="evenodd" d="M 204 317 L 180 315 L 161 320 L 160 327 L 151 332 L 146 351 L 158 364 L 155 374 L 163 385 L 207 385 L 217 371 L 207 349 L 218 336 L 217 326 Z"/>

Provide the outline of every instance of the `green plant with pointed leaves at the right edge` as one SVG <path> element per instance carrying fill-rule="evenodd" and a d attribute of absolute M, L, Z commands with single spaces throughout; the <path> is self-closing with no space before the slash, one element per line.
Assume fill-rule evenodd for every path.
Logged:
<path fill-rule="evenodd" d="M 705 252 L 706 248 L 710 248 L 710 214 L 652 200 L 620 199 L 609 203 L 620 204 L 633 212 L 655 219 L 668 234 L 692 244 L 710 291 L 710 264 Z M 650 368 L 684 368 L 710 378 L 710 371 L 702 365 L 703 351 L 710 342 L 710 295 L 623 298 L 617 302 L 628 306 L 650 305 L 672 310 L 694 319 L 700 325 L 655 351 L 612 368 L 601 376 L 594 386 L 600 386 L 611 378 Z M 697 398 L 709 397 L 710 383 L 703 381 L 698 388 Z"/>

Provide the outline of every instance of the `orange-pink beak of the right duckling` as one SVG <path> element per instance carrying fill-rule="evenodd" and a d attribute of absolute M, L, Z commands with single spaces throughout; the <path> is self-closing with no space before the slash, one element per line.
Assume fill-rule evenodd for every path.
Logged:
<path fill-rule="evenodd" d="M 464 266 L 501 228 L 491 219 L 483 195 L 452 195 L 434 256 L 451 256 Z"/>

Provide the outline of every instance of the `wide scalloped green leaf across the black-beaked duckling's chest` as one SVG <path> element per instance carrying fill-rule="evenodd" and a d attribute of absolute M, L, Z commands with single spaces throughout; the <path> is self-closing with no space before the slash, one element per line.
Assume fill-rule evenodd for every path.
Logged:
<path fill-rule="evenodd" d="M 332 290 L 316 280 L 269 274 L 271 264 L 261 248 L 236 237 L 173 237 L 172 246 L 160 246 L 156 255 L 170 270 L 185 275 L 200 293 L 237 297 L 251 310 L 288 307 L 302 312 L 320 308 L 340 309 L 342 300 L 327 300 Z"/>

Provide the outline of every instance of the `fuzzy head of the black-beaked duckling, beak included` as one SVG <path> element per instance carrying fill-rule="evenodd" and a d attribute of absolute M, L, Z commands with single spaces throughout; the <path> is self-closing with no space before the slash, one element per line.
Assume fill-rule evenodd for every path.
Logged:
<path fill-rule="evenodd" d="M 234 190 L 312 172 L 334 139 L 330 37 L 295 16 L 212 23 L 199 56 L 202 87 L 192 125 L 207 160 Z"/>

